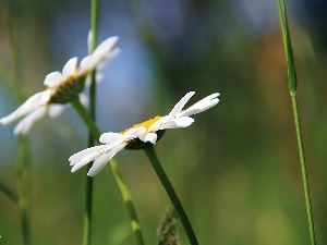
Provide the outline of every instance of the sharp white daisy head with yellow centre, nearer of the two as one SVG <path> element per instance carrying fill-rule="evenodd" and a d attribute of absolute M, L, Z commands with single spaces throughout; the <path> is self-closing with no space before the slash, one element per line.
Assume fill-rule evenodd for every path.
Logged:
<path fill-rule="evenodd" d="M 194 119 L 190 115 L 203 112 L 219 102 L 219 94 L 216 93 L 199 100 L 186 110 L 182 110 L 194 94 L 195 91 L 189 91 L 168 115 L 157 115 L 120 133 L 109 132 L 102 134 L 99 138 L 102 145 L 84 149 L 70 157 L 70 164 L 73 166 L 72 172 L 94 161 L 87 172 L 88 176 L 94 176 L 118 151 L 124 148 L 143 149 L 149 145 L 155 145 L 162 137 L 166 130 L 190 126 L 194 122 Z"/>

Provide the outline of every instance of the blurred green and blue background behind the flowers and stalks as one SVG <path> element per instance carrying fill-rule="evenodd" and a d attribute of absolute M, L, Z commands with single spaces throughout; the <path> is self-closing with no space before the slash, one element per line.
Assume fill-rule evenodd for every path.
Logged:
<path fill-rule="evenodd" d="M 118 35 L 122 53 L 102 71 L 97 122 L 121 131 L 219 91 L 215 108 L 187 128 L 168 131 L 158 156 L 199 244 L 310 244 L 286 61 L 275 1 L 99 1 L 99 40 Z M 299 78 L 317 244 L 327 243 L 326 2 L 288 1 Z M 12 41 L 21 50 L 24 97 L 72 57 L 87 54 L 89 2 L 0 0 L 0 117 L 19 103 Z M 16 189 L 14 124 L 0 127 L 0 179 Z M 28 135 L 33 244 L 81 244 L 86 168 L 68 158 L 86 147 L 86 128 L 68 108 Z M 169 199 L 142 151 L 117 156 L 146 244 Z M 21 244 L 19 209 L 0 194 L 0 244 Z M 109 168 L 95 177 L 93 244 L 135 244 Z M 187 244 L 179 224 L 182 244 Z"/>

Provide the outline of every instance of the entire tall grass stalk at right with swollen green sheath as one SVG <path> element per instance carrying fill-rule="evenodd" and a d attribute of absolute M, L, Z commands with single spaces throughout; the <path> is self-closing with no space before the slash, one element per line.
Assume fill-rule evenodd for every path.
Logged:
<path fill-rule="evenodd" d="M 288 25 L 286 2 L 284 2 L 284 0 L 277 0 L 277 4 L 278 4 L 281 33 L 282 33 L 282 40 L 283 40 L 286 58 L 287 58 L 287 65 L 288 65 L 289 89 L 290 89 L 290 94 L 291 94 L 293 113 L 294 113 L 294 122 L 295 122 L 296 138 L 298 138 L 300 162 L 301 162 L 301 170 L 302 170 L 302 179 L 303 179 L 303 187 L 304 187 L 304 195 L 305 195 L 305 205 L 306 205 L 310 237 L 311 237 L 311 244 L 315 245 L 316 238 L 315 238 L 314 221 L 313 221 L 310 188 L 308 188 L 308 181 L 307 181 L 307 172 L 306 172 L 306 164 L 305 164 L 305 155 L 304 155 L 304 147 L 303 147 L 303 140 L 302 140 L 302 133 L 301 133 L 301 123 L 300 123 L 300 115 L 299 115 L 298 100 L 296 100 L 298 79 L 296 79 L 295 62 L 294 62 L 290 30 L 289 30 L 289 25 Z"/>

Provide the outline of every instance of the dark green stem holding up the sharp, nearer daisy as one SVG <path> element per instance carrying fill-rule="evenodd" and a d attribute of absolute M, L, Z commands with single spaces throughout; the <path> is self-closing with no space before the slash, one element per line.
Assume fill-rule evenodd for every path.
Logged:
<path fill-rule="evenodd" d="M 187 234 L 187 237 L 189 237 L 189 241 L 190 241 L 190 244 L 191 245 L 197 245 L 198 242 L 197 242 L 197 238 L 195 236 L 195 233 L 193 231 L 193 228 L 191 225 L 191 222 L 186 216 L 186 212 L 171 184 L 171 182 L 169 181 L 162 166 L 160 164 L 160 161 L 156 155 L 156 151 L 155 151 L 155 148 L 154 146 L 149 146 L 149 147 L 146 147 L 144 148 L 144 151 L 145 151 L 145 155 L 147 156 L 148 160 L 150 161 L 155 172 L 157 173 L 161 184 L 164 185 L 172 205 L 174 206 L 178 215 L 179 215 L 179 218 L 184 226 L 184 230 Z"/>

